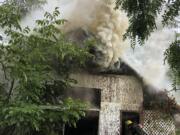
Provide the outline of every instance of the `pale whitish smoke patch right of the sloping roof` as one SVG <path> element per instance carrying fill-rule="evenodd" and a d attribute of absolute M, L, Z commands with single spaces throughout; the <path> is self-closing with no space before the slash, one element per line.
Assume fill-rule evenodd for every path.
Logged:
<path fill-rule="evenodd" d="M 164 52 L 173 40 L 171 30 L 160 28 L 151 35 L 146 45 L 136 46 L 135 50 L 127 49 L 122 58 L 146 83 L 153 84 L 158 89 L 170 89 L 169 67 L 164 63 Z"/>

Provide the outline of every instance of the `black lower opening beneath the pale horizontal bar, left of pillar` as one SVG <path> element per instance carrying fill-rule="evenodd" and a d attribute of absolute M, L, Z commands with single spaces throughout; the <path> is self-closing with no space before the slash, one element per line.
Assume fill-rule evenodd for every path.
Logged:
<path fill-rule="evenodd" d="M 89 111 L 78 121 L 77 127 L 65 126 L 65 135 L 98 135 L 99 112 Z"/>

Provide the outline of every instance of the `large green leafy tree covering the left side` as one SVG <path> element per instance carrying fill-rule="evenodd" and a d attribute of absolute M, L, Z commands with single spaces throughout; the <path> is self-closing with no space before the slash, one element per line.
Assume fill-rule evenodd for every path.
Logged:
<path fill-rule="evenodd" d="M 63 123 L 75 126 L 86 105 L 64 100 L 60 91 L 75 83 L 69 74 L 84 66 L 86 48 L 64 38 L 58 26 L 66 20 L 57 19 L 58 8 L 34 29 L 21 27 L 16 5 L 5 3 L 0 11 L 0 27 L 9 38 L 0 44 L 0 134 L 54 135 Z"/>

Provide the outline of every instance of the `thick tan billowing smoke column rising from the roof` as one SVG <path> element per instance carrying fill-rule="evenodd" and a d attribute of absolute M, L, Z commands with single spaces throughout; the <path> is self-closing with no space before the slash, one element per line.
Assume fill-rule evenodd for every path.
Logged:
<path fill-rule="evenodd" d="M 126 14 L 115 11 L 111 1 L 94 0 L 93 4 L 89 0 L 75 1 L 76 6 L 68 18 L 65 31 L 82 28 L 94 35 L 100 41 L 96 50 L 101 52 L 98 56 L 101 59 L 96 59 L 96 63 L 103 69 L 111 67 L 127 47 L 127 42 L 122 39 L 128 27 Z"/>

